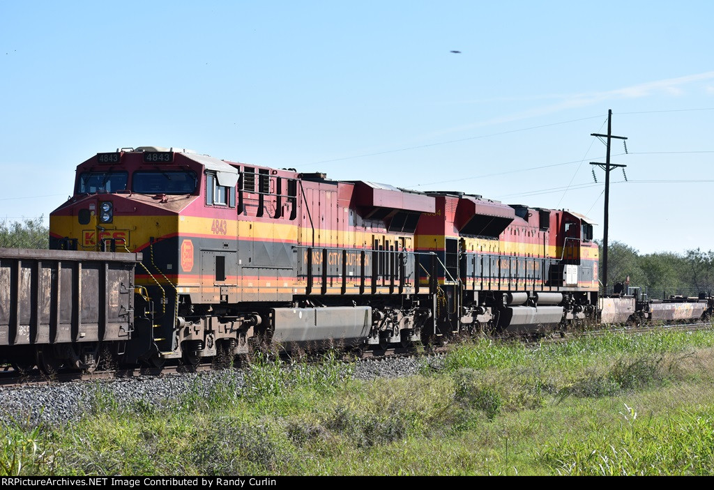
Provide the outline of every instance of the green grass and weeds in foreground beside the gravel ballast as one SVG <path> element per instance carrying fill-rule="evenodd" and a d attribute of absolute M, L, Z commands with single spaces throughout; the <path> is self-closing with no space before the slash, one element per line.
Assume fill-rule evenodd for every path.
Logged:
<path fill-rule="evenodd" d="M 456 347 L 363 382 L 262 357 L 238 387 L 2 427 L 0 474 L 712 474 L 714 332 Z M 431 363 L 433 364 L 433 362 Z"/>

